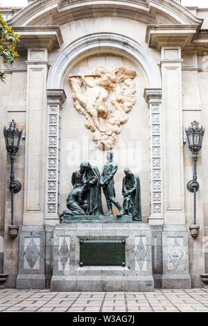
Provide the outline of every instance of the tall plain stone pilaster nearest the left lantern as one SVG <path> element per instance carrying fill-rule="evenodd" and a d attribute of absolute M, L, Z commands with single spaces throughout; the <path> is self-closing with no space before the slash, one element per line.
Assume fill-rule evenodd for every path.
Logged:
<path fill-rule="evenodd" d="M 46 49 L 28 49 L 24 225 L 44 223 L 46 149 Z"/>

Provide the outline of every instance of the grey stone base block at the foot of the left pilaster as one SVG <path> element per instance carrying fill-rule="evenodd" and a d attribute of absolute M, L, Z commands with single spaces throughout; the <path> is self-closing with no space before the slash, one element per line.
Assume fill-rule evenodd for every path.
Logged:
<path fill-rule="evenodd" d="M 17 276 L 17 289 L 45 289 L 45 288 L 46 288 L 45 275 L 19 274 Z"/>

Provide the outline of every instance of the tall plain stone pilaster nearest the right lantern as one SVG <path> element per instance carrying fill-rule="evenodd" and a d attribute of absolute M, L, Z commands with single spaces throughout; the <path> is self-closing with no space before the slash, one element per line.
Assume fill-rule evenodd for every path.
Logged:
<path fill-rule="evenodd" d="M 180 46 L 162 46 L 164 222 L 185 224 Z"/>

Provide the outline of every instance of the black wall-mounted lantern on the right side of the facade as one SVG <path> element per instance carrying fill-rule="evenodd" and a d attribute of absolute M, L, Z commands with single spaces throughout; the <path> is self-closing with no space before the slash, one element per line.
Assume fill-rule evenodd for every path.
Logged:
<path fill-rule="evenodd" d="M 197 154 L 202 148 L 202 141 L 205 129 L 203 129 L 202 126 L 199 127 L 199 123 L 197 121 L 192 121 L 191 126 L 189 126 L 189 128 L 185 131 L 189 143 L 189 150 L 192 153 L 193 159 L 193 180 L 190 180 L 187 183 L 187 189 L 193 192 L 193 225 L 190 225 L 189 229 L 192 237 L 197 237 L 200 225 L 196 224 L 196 191 L 198 191 L 199 189 L 199 183 L 197 181 L 196 174 L 196 161 Z"/>

